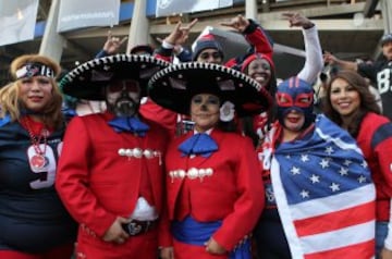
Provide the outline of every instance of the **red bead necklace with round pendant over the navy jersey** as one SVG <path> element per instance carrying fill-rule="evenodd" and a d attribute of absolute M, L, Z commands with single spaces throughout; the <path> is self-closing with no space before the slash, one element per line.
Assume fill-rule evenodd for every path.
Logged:
<path fill-rule="evenodd" d="M 36 135 L 34 135 L 34 133 L 32 131 L 29 119 L 26 118 L 26 120 L 23 121 L 23 124 L 28 132 L 30 141 L 33 144 L 33 148 L 35 151 L 35 155 L 33 155 L 29 158 L 29 164 L 35 170 L 44 169 L 49 163 L 49 159 L 45 156 L 46 149 L 47 149 L 47 137 L 49 135 L 49 131 L 47 128 L 42 127 L 42 130 L 39 133 L 39 136 L 37 137 Z M 40 141 L 42 138 L 44 138 L 44 148 L 41 149 Z"/>

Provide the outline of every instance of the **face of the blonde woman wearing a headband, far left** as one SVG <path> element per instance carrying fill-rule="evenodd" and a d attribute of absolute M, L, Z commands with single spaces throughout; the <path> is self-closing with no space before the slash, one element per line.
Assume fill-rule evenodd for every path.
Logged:
<path fill-rule="evenodd" d="M 21 78 L 20 100 L 30 111 L 41 112 L 52 98 L 53 85 L 46 76 Z"/>

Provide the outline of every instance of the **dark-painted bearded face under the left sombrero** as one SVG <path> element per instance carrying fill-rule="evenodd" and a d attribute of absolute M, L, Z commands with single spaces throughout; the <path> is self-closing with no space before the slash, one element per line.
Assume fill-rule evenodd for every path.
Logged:
<path fill-rule="evenodd" d="M 117 116 L 133 116 L 140 103 L 140 87 L 136 81 L 113 82 L 106 88 L 108 110 Z"/>

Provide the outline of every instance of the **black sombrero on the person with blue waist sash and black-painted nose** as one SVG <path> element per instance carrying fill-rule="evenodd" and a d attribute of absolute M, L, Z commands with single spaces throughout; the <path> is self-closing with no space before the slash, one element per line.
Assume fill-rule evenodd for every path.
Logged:
<path fill-rule="evenodd" d="M 231 101 L 238 116 L 268 110 L 272 98 L 256 81 L 226 66 L 188 62 L 170 65 L 156 73 L 148 83 L 148 96 L 158 104 L 188 114 L 191 98 L 215 94 L 222 103 Z"/>

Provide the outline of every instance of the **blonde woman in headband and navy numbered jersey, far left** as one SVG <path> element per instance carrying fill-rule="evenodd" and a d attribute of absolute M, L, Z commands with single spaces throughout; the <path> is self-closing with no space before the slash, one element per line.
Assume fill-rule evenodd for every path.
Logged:
<path fill-rule="evenodd" d="M 54 189 L 65 126 L 60 66 L 26 54 L 10 71 L 0 90 L 0 258 L 69 259 L 77 225 Z"/>

